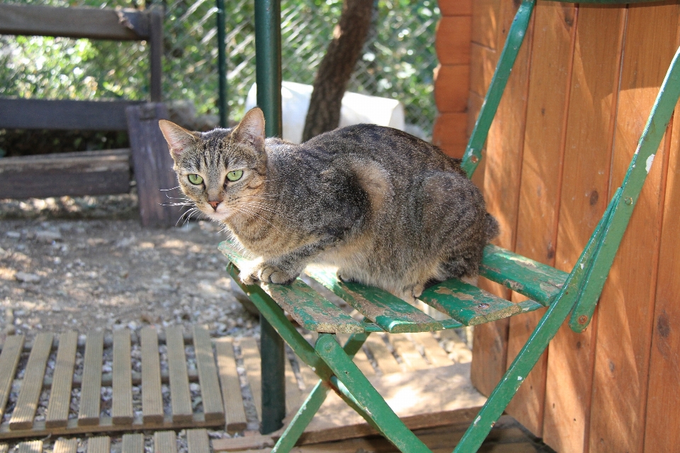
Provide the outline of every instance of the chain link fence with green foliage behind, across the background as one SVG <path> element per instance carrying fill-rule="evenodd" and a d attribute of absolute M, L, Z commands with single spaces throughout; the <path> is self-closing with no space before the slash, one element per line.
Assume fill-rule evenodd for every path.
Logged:
<path fill-rule="evenodd" d="M 122 0 L 14 0 L 49 6 L 145 8 Z M 255 81 L 253 0 L 225 1 L 229 118 L 244 113 Z M 189 101 L 217 115 L 214 0 L 164 0 L 164 98 Z M 341 0 L 282 0 L 283 79 L 312 84 L 342 8 Z M 431 135 L 436 108 L 436 0 L 376 0 L 369 32 L 348 90 L 404 104 L 409 132 Z M 0 36 L 0 96 L 101 99 L 149 97 L 145 42 Z"/>

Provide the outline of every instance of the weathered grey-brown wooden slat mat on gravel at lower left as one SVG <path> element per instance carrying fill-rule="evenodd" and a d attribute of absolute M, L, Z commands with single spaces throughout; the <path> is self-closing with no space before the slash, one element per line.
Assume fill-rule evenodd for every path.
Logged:
<path fill-rule="evenodd" d="M 0 440 L 225 426 L 216 357 L 202 327 L 39 333 L 24 343 L 10 336 L 0 350 Z M 241 394 L 238 380 L 229 385 Z"/>

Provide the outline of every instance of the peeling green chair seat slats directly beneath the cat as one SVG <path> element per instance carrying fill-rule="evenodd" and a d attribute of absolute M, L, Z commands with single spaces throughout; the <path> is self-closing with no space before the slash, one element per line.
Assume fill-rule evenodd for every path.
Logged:
<path fill-rule="evenodd" d="M 220 243 L 219 248 L 232 262 L 229 273 L 238 281 L 236 268 L 246 265 L 247 259 L 229 241 Z M 510 262 L 513 263 L 512 260 Z M 320 267 L 310 267 L 307 273 L 344 299 L 365 316 L 367 321 L 362 323 L 353 319 L 299 278 L 291 285 L 257 282 L 246 290 L 251 289 L 251 297 L 256 296 L 258 291 L 263 292 L 303 328 L 325 333 L 441 331 L 460 326 L 475 326 L 533 311 L 542 306 L 533 301 L 514 304 L 460 280 L 448 280 L 430 287 L 420 297 L 423 302 L 451 318 L 439 321 L 383 289 L 356 282 L 343 282 L 335 273 Z M 515 274 L 521 275 L 518 272 Z M 538 277 L 534 278 L 537 279 L 540 280 Z M 528 277 L 525 280 L 533 282 Z"/>

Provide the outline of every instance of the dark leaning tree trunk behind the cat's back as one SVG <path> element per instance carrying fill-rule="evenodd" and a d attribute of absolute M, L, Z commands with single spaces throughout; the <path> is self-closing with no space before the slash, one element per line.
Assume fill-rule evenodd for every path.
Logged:
<path fill-rule="evenodd" d="M 302 142 L 338 127 L 342 96 L 361 54 L 372 15 L 373 0 L 344 0 L 333 40 L 314 79 Z"/>

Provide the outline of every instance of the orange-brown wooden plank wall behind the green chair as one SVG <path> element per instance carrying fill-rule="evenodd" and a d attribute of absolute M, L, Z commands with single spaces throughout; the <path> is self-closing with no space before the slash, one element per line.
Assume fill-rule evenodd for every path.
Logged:
<path fill-rule="evenodd" d="M 458 16 L 447 15 L 445 3 L 460 5 Z M 470 4 L 471 16 L 463 4 Z M 470 132 L 519 1 L 440 5 L 441 110 L 433 135 L 460 156 L 460 130 L 465 124 Z M 468 33 L 453 25 L 452 18 L 462 23 L 460 17 L 471 25 L 465 119 L 450 116 L 462 112 L 440 98 L 467 81 L 461 76 L 456 84 L 452 69 L 443 70 L 452 63 L 442 59 L 442 48 L 452 49 L 448 42 Z M 484 165 L 473 178 L 502 225 L 499 246 L 571 270 L 623 180 L 680 45 L 679 25 L 677 1 L 606 7 L 538 1 L 489 132 Z M 671 452 L 680 445 L 678 219 L 676 117 L 591 325 L 581 334 L 563 326 L 508 408 L 557 451 Z M 489 282 L 482 285 L 521 301 Z M 472 379 L 482 393 L 493 389 L 542 314 L 475 328 Z"/>

